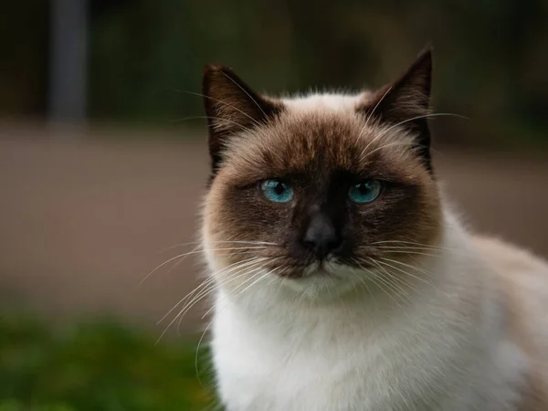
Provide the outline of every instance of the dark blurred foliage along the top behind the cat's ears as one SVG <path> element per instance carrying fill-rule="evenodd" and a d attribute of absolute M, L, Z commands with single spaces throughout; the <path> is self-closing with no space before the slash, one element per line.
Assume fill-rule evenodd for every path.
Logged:
<path fill-rule="evenodd" d="M 8 53 L 0 79 L 25 92 L 0 95 L 0 112 L 36 113 L 47 1 L 4 3 L 0 26 L 12 36 L 0 41 L 24 47 Z M 437 111 L 473 120 L 437 120 L 448 140 L 465 129 L 479 141 L 546 140 L 547 23 L 545 0 L 90 0 L 89 113 L 160 124 L 203 115 L 201 99 L 184 90 L 200 91 L 206 62 L 274 93 L 376 87 L 431 41 Z"/>

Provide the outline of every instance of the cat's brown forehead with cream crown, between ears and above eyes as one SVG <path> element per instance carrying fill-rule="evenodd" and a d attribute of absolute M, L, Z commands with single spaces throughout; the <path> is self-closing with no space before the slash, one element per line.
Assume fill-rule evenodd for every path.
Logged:
<path fill-rule="evenodd" d="M 284 100 L 286 110 L 276 121 L 230 144 L 227 167 L 250 179 L 341 170 L 395 179 L 420 173 L 409 149 L 412 138 L 356 112 L 358 99 L 328 94 Z"/>

